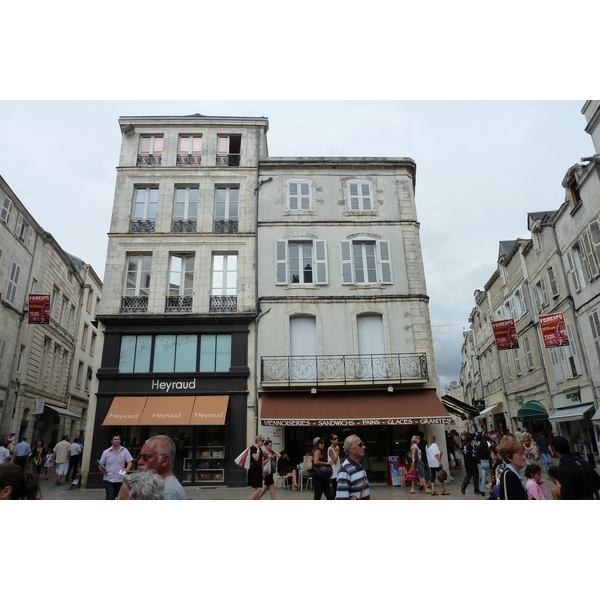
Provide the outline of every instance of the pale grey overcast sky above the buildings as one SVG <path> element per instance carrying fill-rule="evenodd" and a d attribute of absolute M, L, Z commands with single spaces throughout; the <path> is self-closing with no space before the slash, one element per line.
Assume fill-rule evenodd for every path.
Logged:
<path fill-rule="evenodd" d="M 265 116 L 270 156 L 406 156 L 440 388 L 459 378 L 473 292 L 527 213 L 557 209 L 593 154 L 577 101 L 4 101 L 0 174 L 41 227 L 103 277 L 124 115 Z"/>

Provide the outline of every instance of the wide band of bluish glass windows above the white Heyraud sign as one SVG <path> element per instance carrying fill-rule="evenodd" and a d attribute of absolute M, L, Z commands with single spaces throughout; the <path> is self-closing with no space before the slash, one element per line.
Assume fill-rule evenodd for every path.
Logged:
<path fill-rule="evenodd" d="M 231 335 L 124 335 L 121 373 L 227 372 Z"/>

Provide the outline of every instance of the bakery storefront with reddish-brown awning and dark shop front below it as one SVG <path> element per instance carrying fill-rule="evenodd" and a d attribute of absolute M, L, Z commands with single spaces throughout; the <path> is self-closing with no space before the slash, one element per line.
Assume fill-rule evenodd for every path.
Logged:
<path fill-rule="evenodd" d="M 435 435 L 442 448 L 444 427 L 453 422 L 435 390 L 370 392 L 263 392 L 263 435 L 280 437 L 292 461 L 301 462 L 312 440 L 358 435 L 366 443 L 365 467 L 373 481 L 387 478 L 388 457 L 405 454 L 421 432 Z M 443 448 L 442 448 L 443 449 Z"/>

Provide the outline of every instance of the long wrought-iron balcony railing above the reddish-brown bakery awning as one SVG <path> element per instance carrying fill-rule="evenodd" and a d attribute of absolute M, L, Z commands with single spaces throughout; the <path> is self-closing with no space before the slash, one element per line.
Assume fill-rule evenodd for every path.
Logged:
<path fill-rule="evenodd" d="M 263 356 L 261 382 L 268 386 L 374 384 L 429 380 L 426 354 Z"/>

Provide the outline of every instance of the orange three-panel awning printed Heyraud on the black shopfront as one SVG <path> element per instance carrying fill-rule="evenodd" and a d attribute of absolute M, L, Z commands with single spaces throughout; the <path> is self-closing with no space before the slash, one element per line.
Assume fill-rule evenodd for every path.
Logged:
<path fill-rule="evenodd" d="M 229 396 L 116 396 L 102 425 L 224 425 Z"/>

